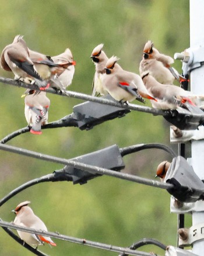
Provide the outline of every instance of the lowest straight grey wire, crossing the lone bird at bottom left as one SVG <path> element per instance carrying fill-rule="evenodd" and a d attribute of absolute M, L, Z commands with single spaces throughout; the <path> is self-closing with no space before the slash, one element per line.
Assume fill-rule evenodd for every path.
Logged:
<path fill-rule="evenodd" d="M 103 249 L 103 250 L 107 250 L 107 251 L 114 251 L 114 252 L 119 252 L 119 253 L 125 252 L 129 255 L 137 255 L 137 256 L 153 256 L 153 255 L 156 256 L 156 254 L 135 251 L 135 250 L 131 250 L 129 248 L 117 247 L 117 246 L 110 245 L 110 244 L 102 244 L 102 243 L 98 243 L 98 242 L 94 242 L 94 241 L 90 241 L 90 240 L 86 240 L 86 239 L 65 236 L 63 234 L 59 234 L 58 232 L 54 233 L 54 232 L 49 232 L 49 231 L 30 229 L 28 227 L 23 227 L 23 226 L 17 226 L 12 223 L 3 222 L 2 220 L 0 220 L 0 226 L 7 227 L 9 229 L 16 229 L 16 230 L 20 230 L 20 231 L 24 231 L 24 232 L 28 232 L 28 233 L 32 233 L 32 234 L 39 234 L 41 236 L 57 238 L 59 240 L 69 241 L 71 243 L 87 245 L 90 247 L 95 247 L 95 248 L 99 248 L 99 249 Z"/>

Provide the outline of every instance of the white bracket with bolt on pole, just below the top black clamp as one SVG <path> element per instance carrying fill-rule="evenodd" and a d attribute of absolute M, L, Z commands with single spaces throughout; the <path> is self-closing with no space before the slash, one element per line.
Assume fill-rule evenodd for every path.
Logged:
<path fill-rule="evenodd" d="M 204 126 L 199 126 L 197 130 L 180 130 L 176 126 L 170 126 L 171 143 L 184 143 L 190 140 L 203 140 Z"/>

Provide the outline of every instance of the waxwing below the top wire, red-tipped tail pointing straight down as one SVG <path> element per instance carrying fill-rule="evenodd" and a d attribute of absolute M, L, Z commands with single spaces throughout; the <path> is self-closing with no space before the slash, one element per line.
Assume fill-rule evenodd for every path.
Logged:
<path fill-rule="evenodd" d="M 35 92 L 30 90 L 26 93 L 24 115 L 28 125 L 31 126 L 30 132 L 41 134 L 41 126 L 48 122 L 50 99 L 47 98 L 44 91 L 40 91 L 38 94 Z"/>

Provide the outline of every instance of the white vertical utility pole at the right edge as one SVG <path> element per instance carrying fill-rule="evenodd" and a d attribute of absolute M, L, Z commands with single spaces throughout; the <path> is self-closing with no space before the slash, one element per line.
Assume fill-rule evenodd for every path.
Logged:
<path fill-rule="evenodd" d="M 204 0 L 190 0 L 190 48 L 204 47 Z M 191 91 L 204 94 L 204 65 L 191 71 Z M 204 141 L 192 140 L 192 167 L 204 179 Z M 204 223 L 203 212 L 192 213 L 192 226 Z M 196 241 L 193 252 L 204 255 L 204 240 Z"/>

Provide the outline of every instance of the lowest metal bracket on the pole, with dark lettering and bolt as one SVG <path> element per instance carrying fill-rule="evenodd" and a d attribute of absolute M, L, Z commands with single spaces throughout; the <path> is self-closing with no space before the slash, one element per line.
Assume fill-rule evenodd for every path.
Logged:
<path fill-rule="evenodd" d="M 196 224 L 189 229 L 178 230 L 178 245 L 180 246 L 189 246 L 199 240 L 204 240 L 204 223 Z"/>

